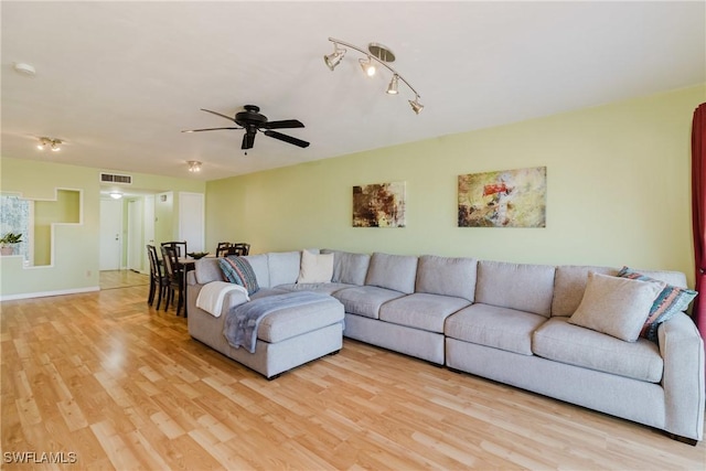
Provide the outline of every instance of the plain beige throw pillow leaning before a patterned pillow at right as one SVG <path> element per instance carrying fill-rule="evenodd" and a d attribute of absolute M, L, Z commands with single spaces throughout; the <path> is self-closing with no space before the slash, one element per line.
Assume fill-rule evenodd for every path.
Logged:
<path fill-rule="evenodd" d="M 635 342 L 663 282 L 631 280 L 588 272 L 584 299 L 569 322 Z"/>

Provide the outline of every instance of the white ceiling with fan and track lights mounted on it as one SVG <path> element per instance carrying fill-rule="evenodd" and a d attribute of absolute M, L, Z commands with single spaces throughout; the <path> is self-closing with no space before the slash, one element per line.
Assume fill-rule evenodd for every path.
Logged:
<path fill-rule="evenodd" d="M 213 180 L 486 128 L 706 82 L 703 1 L 1 3 L 1 156 Z M 328 38 L 378 42 L 421 95 L 370 79 Z M 29 63 L 33 78 L 14 72 Z M 300 149 L 242 130 L 260 106 Z M 233 125 L 234 126 L 234 125 Z M 36 138 L 65 140 L 42 153 Z M 201 174 L 188 160 L 203 161 Z"/>

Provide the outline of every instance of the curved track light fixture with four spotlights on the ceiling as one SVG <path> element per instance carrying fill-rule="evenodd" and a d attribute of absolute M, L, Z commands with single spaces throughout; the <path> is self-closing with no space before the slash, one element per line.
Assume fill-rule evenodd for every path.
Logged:
<path fill-rule="evenodd" d="M 363 51 L 362 49 L 356 47 L 353 44 L 334 40 L 333 38 L 329 38 L 329 41 L 333 43 L 333 53 L 324 55 L 323 61 L 331 71 L 333 71 L 341 63 L 343 56 L 345 55 L 346 50 L 342 46 L 357 51 L 365 56 L 359 60 L 363 72 L 365 72 L 365 75 L 367 75 L 368 77 L 375 75 L 376 64 L 384 66 L 393 73 L 393 78 L 389 81 L 389 85 L 387 85 L 387 94 L 397 95 L 399 81 L 402 81 L 415 94 L 415 99 L 409 100 L 409 105 L 411 106 L 413 111 L 415 111 L 415 114 L 417 115 L 421 113 L 421 110 L 424 109 L 424 105 L 419 103 L 419 93 L 411 85 L 409 85 L 409 82 L 407 82 L 405 77 L 399 75 L 399 73 L 388 64 L 391 62 L 395 62 L 395 54 L 393 54 L 389 47 L 386 47 L 378 43 L 370 43 L 367 45 L 367 51 Z"/>

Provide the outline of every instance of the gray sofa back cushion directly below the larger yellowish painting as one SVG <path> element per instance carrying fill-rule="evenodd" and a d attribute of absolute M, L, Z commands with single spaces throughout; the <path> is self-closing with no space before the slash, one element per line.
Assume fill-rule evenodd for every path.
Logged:
<path fill-rule="evenodd" d="M 550 265 L 478 263 L 475 302 L 549 317 L 555 267 Z"/>

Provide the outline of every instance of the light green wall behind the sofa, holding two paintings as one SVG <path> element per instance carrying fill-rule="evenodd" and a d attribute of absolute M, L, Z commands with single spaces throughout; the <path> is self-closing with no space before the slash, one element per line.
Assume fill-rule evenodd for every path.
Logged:
<path fill-rule="evenodd" d="M 703 101 L 700 85 L 211 181 L 207 247 L 244 240 L 254 254 L 329 247 L 624 264 L 681 270 L 693 282 L 691 121 Z M 543 165 L 546 228 L 457 227 L 459 174 Z M 352 186 L 392 181 L 407 183 L 407 226 L 352 227 Z"/>

